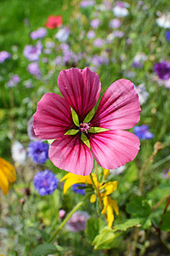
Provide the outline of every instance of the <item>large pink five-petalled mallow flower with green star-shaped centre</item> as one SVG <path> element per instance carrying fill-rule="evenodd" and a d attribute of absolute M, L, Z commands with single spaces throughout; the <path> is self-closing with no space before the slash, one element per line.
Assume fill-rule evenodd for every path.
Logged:
<path fill-rule="evenodd" d="M 135 158 L 139 138 L 123 131 L 140 118 L 139 97 L 132 82 L 120 79 L 111 84 L 94 116 L 91 113 L 101 90 L 97 73 L 88 67 L 63 70 L 58 84 L 63 97 L 46 93 L 34 114 L 37 137 L 54 139 L 48 152 L 54 166 L 85 176 L 92 172 L 94 159 L 99 166 L 115 169 Z"/>

